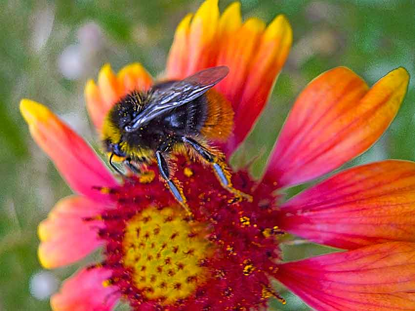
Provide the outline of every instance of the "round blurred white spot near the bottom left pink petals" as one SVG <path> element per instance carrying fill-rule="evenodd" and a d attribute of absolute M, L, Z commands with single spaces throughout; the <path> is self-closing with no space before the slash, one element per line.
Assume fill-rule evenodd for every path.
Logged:
<path fill-rule="evenodd" d="M 30 293 L 38 300 L 49 298 L 58 290 L 59 285 L 56 276 L 45 270 L 33 274 L 29 282 Z"/>

